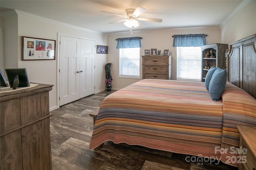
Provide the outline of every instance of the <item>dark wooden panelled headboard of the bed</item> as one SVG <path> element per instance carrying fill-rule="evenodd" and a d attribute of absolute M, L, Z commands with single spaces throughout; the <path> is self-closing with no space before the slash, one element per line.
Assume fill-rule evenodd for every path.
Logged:
<path fill-rule="evenodd" d="M 256 99 L 256 34 L 230 44 L 228 81 Z"/>

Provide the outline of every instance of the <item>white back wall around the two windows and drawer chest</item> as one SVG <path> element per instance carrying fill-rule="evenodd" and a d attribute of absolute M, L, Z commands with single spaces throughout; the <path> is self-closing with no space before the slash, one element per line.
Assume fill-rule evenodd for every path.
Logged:
<path fill-rule="evenodd" d="M 136 28 L 134 29 L 136 30 Z M 170 55 L 172 55 L 172 80 L 176 80 L 176 47 L 173 45 L 172 35 L 176 34 L 197 34 L 205 33 L 208 36 L 206 37 L 206 43 L 221 43 L 221 31 L 219 27 L 205 27 L 205 28 L 186 28 L 186 29 L 166 29 L 166 30 L 157 30 L 157 31 L 133 31 L 131 35 L 130 32 L 126 33 L 113 33 L 108 35 L 108 45 L 109 45 L 109 54 L 108 62 L 112 63 L 111 65 L 111 75 L 113 78 L 112 88 L 113 90 L 118 90 L 124 88 L 134 82 L 137 82 L 138 79 L 130 78 L 118 78 L 118 56 L 119 51 L 116 49 L 116 39 L 122 37 L 142 37 L 141 39 L 141 55 L 144 55 L 145 49 L 157 49 L 161 50 L 162 53 L 164 49 L 170 50 Z"/>

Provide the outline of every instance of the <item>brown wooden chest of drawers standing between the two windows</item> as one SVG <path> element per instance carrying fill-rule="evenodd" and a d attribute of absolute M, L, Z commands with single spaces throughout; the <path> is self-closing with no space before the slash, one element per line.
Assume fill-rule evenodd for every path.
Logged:
<path fill-rule="evenodd" d="M 171 79 L 171 56 L 142 56 L 142 79 Z"/>

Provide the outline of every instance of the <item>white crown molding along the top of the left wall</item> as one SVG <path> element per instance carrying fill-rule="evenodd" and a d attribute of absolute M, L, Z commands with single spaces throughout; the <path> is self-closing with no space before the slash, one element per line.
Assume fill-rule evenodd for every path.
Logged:
<path fill-rule="evenodd" d="M 33 15 L 33 14 L 29 14 L 29 13 L 26 13 L 26 12 L 22 12 L 22 11 L 19 11 L 19 10 L 10 10 L 10 11 L 7 11 L 7 12 L 1 12 L 1 17 L 10 16 L 12 14 L 17 14 L 18 16 L 33 18 L 33 19 L 45 21 L 45 22 L 48 22 L 48 23 L 54 23 L 54 24 L 57 24 L 57 25 L 65 26 L 65 27 L 79 29 L 79 30 L 82 30 L 82 31 L 102 34 L 102 32 L 94 31 L 94 30 L 91 30 L 91 29 L 86 29 L 86 28 L 83 28 L 83 27 L 78 27 L 78 26 L 63 23 L 63 22 L 60 22 L 60 21 L 51 20 L 51 19 L 48 19 L 48 18 L 44 18 L 44 17 Z"/>

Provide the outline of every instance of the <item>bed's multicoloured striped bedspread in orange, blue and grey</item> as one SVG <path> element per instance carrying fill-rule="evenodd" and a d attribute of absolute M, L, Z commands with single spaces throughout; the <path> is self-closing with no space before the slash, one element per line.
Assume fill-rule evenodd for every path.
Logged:
<path fill-rule="evenodd" d="M 255 35 L 250 39 L 255 49 Z M 237 43 L 244 45 L 240 41 Z M 228 62 L 234 51 L 229 53 Z M 228 75 L 228 80 L 232 80 L 232 74 Z M 255 127 L 255 110 L 255 98 L 229 81 L 225 82 L 220 100 L 214 101 L 204 82 L 143 79 L 103 100 L 89 149 L 113 141 L 212 158 L 238 166 L 230 160 L 238 156 L 230 151 L 230 147 L 239 148 L 236 125 Z M 220 149 L 228 151 L 220 152 Z"/>

